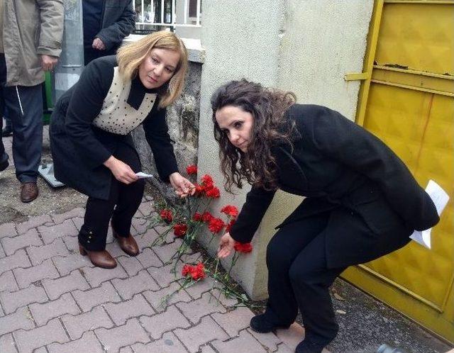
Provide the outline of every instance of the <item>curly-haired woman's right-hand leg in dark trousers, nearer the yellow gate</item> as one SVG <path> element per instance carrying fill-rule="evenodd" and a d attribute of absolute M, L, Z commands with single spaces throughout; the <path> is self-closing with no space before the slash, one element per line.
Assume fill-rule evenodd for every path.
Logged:
<path fill-rule="evenodd" d="M 303 318 L 304 344 L 308 348 L 306 351 L 297 352 L 321 352 L 338 332 L 328 288 L 345 267 L 326 268 L 325 242 L 326 233 L 323 231 L 304 247 L 289 270 L 292 288 Z M 311 347 L 311 344 L 314 347 Z M 301 344 L 300 349 L 303 349 L 302 347 Z"/>

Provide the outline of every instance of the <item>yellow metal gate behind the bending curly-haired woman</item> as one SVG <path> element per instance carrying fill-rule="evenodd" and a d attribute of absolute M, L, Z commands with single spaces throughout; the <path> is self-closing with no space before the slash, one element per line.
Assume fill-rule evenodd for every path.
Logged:
<path fill-rule="evenodd" d="M 454 1 L 378 0 L 357 123 L 401 157 L 421 186 L 450 195 L 432 249 L 404 249 L 343 277 L 454 342 Z"/>

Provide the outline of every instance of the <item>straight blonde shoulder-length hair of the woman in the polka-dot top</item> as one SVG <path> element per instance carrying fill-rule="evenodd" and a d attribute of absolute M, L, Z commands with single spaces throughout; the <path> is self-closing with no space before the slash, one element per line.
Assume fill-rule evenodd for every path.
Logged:
<path fill-rule="evenodd" d="M 187 72 L 187 50 L 181 39 L 172 32 L 160 30 L 147 35 L 136 42 L 123 45 L 117 52 L 118 72 L 123 82 L 133 79 L 138 74 L 140 64 L 145 60 L 153 48 L 174 50 L 179 52 L 179 62 L 173 74 L 165 86 L 167 91 L 160 94 L 160 108 L 172 104 L 181 94 L 184 86 L 184 77 Z"/>

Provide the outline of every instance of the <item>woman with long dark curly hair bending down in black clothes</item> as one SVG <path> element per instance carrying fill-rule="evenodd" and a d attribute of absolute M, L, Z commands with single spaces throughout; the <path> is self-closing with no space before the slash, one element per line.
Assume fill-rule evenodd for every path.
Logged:
<path fill-rule="evenodd" d="M 392 150 L 336 111 L 244 79 L 221 86 L 211 108 L 226 189 L 252 185 L 218 257 L 252 240 L 277 189 L 306 196 L 267 246 L 267 308 L 250 327 L 289 327 L 299 310 L 296 352 L 321 352 L 338 332 L 334 279 L 436 225 L 436 208 Z"/>

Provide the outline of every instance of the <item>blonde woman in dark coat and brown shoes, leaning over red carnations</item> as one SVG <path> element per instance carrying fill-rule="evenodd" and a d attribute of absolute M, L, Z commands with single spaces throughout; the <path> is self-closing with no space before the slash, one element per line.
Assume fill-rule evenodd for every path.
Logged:
<path fill-rule="evenodd" d="M 79 250 L 97 267 L 116 261 L 105 250 L 111 221 L 114 237 L 131 256 L 138 245 L 131 220 L 143 196 L 140 159 L 131 131 L 143 125 L 160 178 L 179 196 L 193 185 L 178 172 L 165 121 L 187 72 L 182 40 L 160 31 L 100 57 L 85 67 L 79 82 L 60 98 L 52 113 L 50 142 L 55 177 L 89 196 Z"/>

